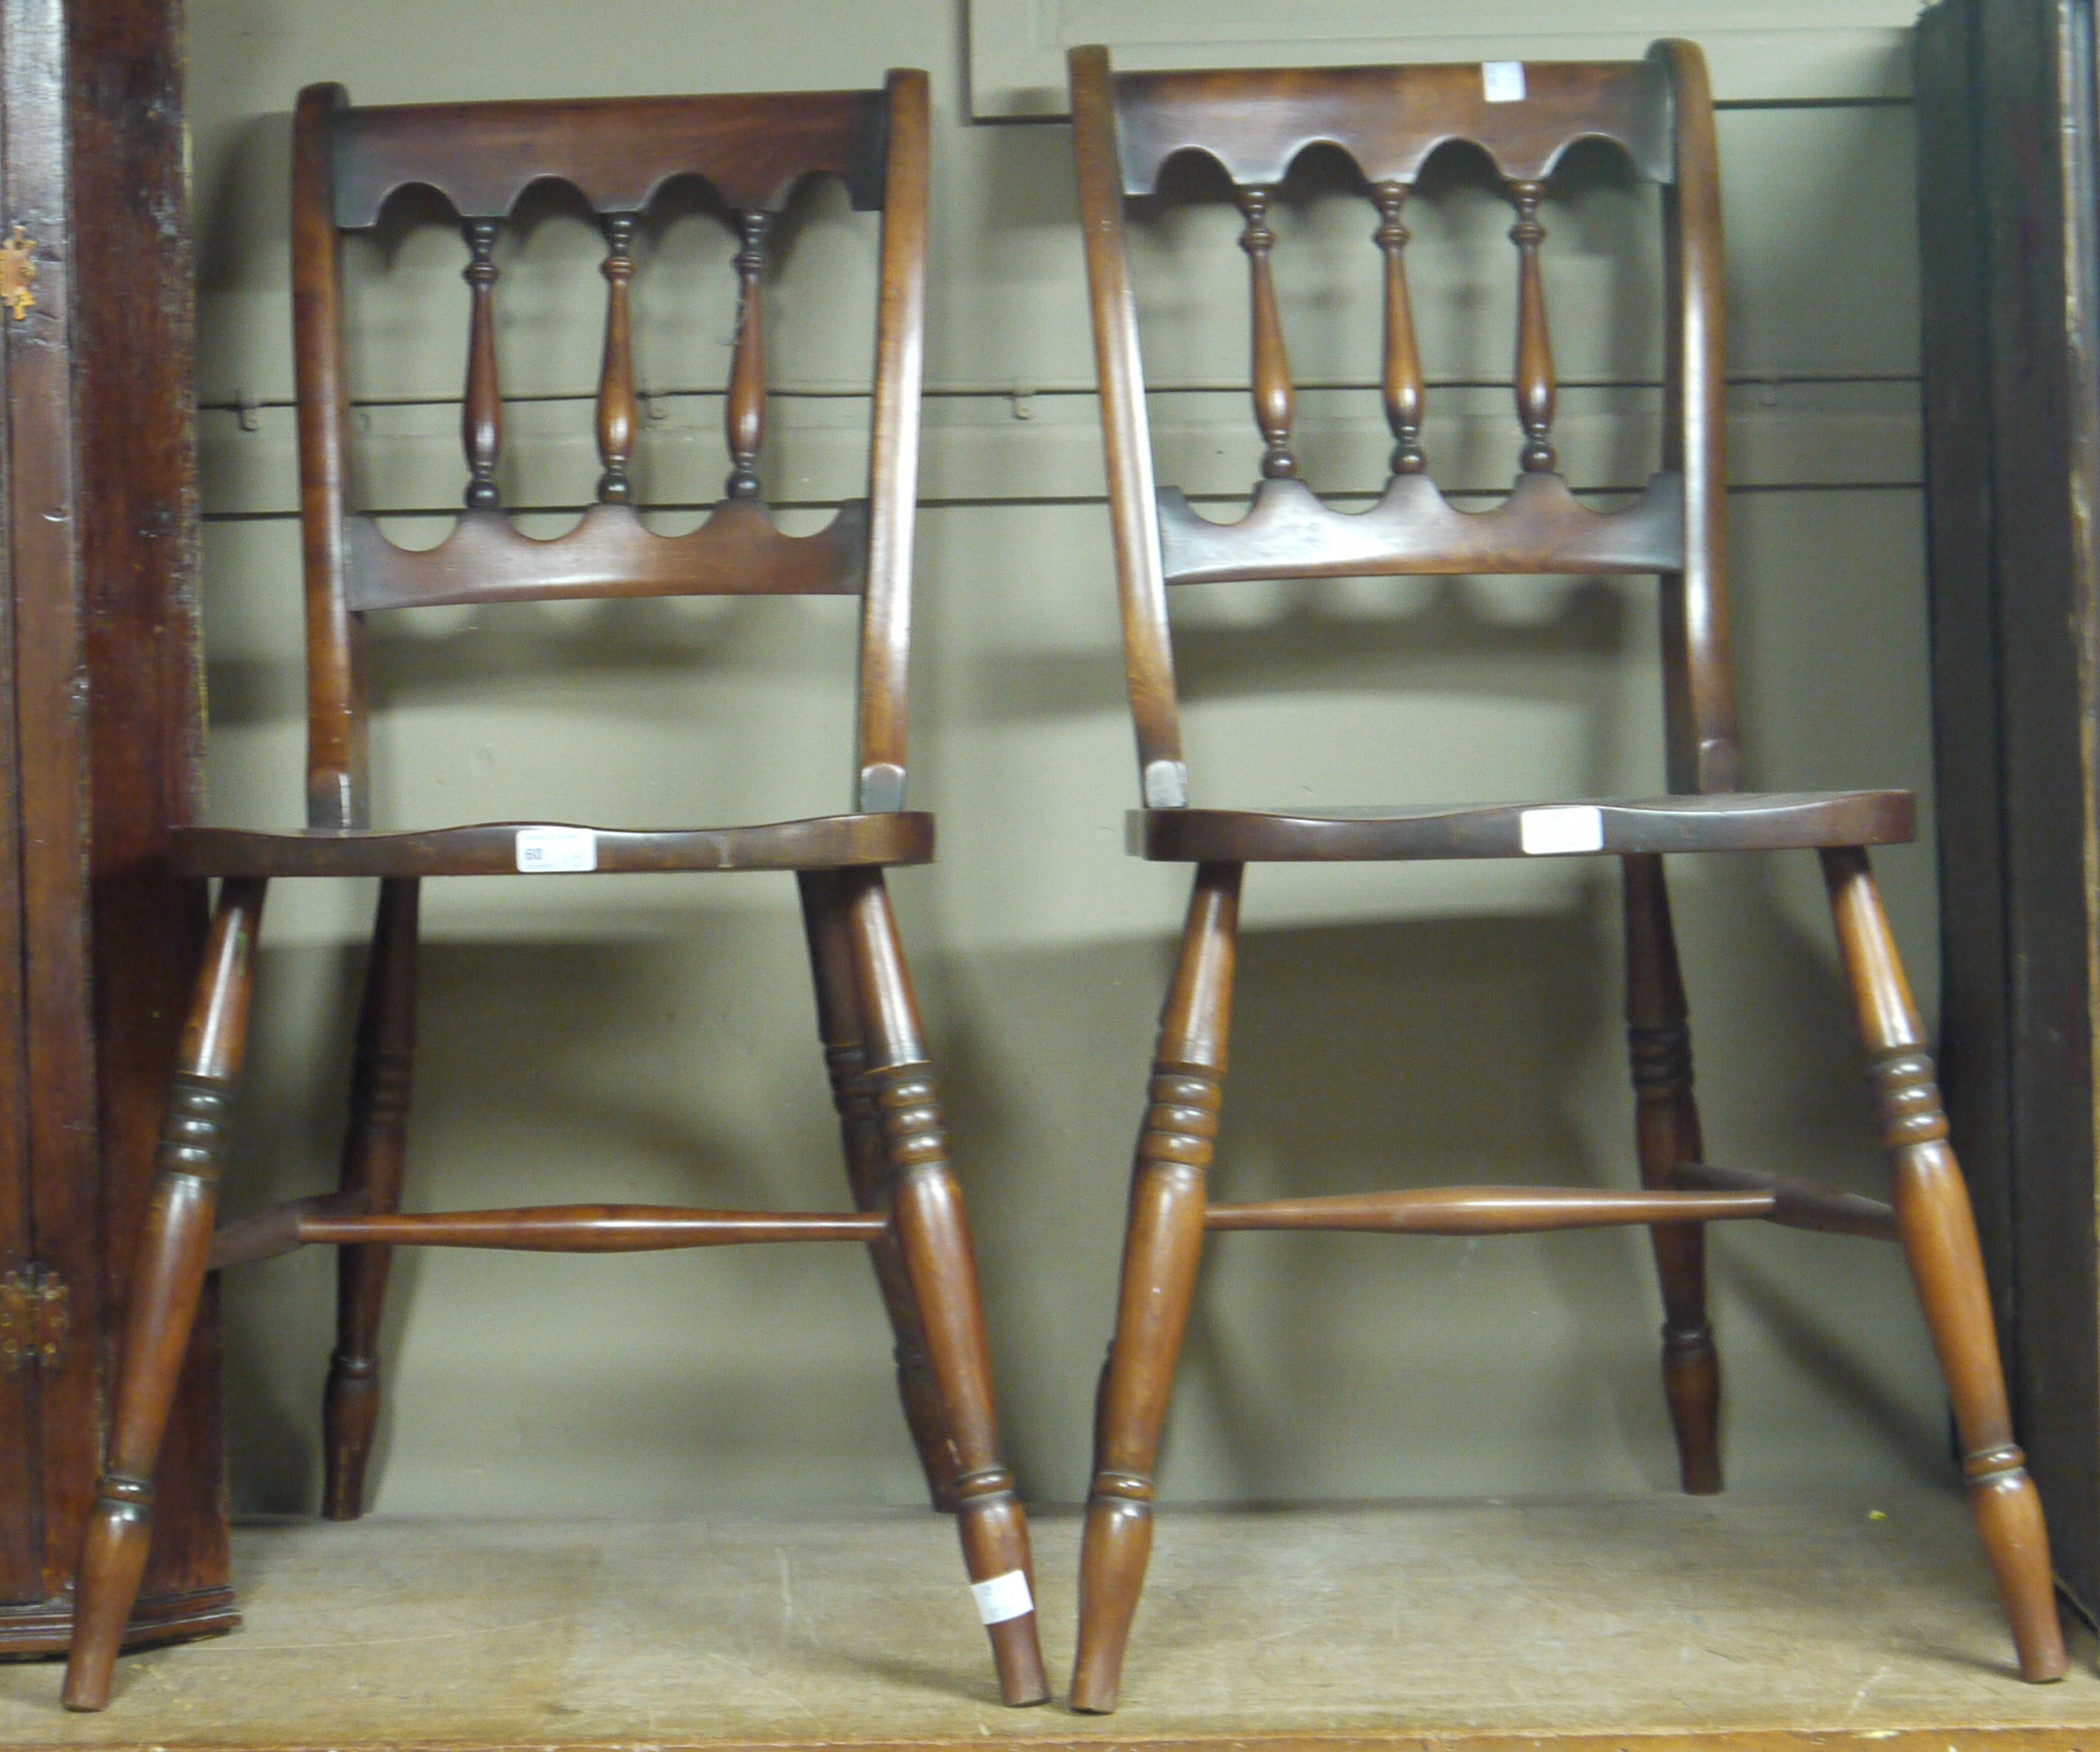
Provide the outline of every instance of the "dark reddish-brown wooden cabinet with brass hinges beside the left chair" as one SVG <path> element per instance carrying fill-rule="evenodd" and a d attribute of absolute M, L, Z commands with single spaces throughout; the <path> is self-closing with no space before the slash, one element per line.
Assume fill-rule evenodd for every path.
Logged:
<path fill-rule="evenodd" d="M 130 1242 L 204 924 L 183 17 L 0 6 L 0 1653 L 63 1649 Z M 34 277 L 32 273 L 34 271 Z M 130 1641 L 223 1630 L 216 1332 Z"/>

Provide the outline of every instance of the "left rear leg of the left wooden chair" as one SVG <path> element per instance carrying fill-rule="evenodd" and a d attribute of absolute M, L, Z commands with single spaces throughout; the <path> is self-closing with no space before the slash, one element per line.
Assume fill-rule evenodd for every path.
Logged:
<path fill-rule="evenodd" d="M 363 1193 L 368 1212 L 401 1208 L 410 1078 L 416 1065 L 414 876 L 380 882 L 351 1065 L 351 1126 L 342 1141 L 342 1191 Z M 355 1521 L 365 1513 L 365 1466 L 380 1418 L 380 1313 L 393 1248 L 361 1242 L 336 1254 L 336 1351 L 321 1401 L 326 1489 L 321 1513 Z"/>

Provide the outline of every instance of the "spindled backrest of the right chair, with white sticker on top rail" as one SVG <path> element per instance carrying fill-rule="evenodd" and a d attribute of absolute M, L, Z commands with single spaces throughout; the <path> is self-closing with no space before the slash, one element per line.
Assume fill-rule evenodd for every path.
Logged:
<path fill-rule="evenodd" d="M 1514 86 L 1495 88 L 1497 80 Z M 1231 578 L 1392 573 L 1657 573 L 1672 792 L 1737 786 L 1728 668 L 1722 227 L 1705 57 L 1657 42 L 1623 63 L 1327 67 L 1115 74 L 1105 48 L 1071 50 L 1073 143 L 1102 389 L 1109 502 L 1130 706 L 1147 807 L 1189 800 L 1166 586 Z M 1554 454 L 1554 361 L 1539 277 L 1546 179 L 1571 145 L 1611 141 L 1661 187 L 1665 260 L 1663 454 L 1632 504 L 1598 513 Z M 1516 208 L 1516 366 L 1522 429 L 1510 498 L 1460 513 L 1428 477 L 1424 374 L 1407 296 L 1403 212 L 1441 145 L 1470 141 Z M 1340 147 L 1378 212 L 1384 256 L 1382 393 L 1392 431 L 1378 506 L 1329 510 L 1298 475 L 1296 397 L 1270 269 L 1270 204 L 1310 145 Z M 1126 202 L 1155 197 L 1178 153 L 1212 158 L 1245 218 L 1252 391 L 1262 479 L 1239 523 L 1212 523 L 1153 479 Z"/>

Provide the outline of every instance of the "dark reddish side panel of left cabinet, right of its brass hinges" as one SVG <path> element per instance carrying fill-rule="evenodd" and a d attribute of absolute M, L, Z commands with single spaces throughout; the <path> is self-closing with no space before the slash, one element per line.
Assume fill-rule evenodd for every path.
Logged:
<path fill-rule="evenodd" d="M 197 813 L 197 456 L 193 250 L 183 143 L 183 15 L 164 0 L 69 11 L 78 519 L 88 670 L 99 1298 L 122 1317 L 168 1065 L 204 945 L 204 884 L 168 863 Z M 158 1468 L 164 1529 L 141 1615 L 231 1622 L 218 1323 L 200 1319 Z M 92 1483 L 61 1531 L 71 1576 Z M 147 1634 L 134 1626 L 132 1639 Z"/>

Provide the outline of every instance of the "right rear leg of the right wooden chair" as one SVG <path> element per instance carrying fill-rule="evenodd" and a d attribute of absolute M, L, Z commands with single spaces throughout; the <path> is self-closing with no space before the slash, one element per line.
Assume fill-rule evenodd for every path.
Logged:
<path fill-rule="evenodd" d="M 1625 865 L 1625 1044 L 1634 1061 L 1640 1183 L 1676 1187 L 1680 1162 L 1703 1162 L 1693 1101 L 1693 1038 L 1670 924 L 1663 859 Z M 1705 1313 L 1705 1225 L 1648 1229 L 1663 1279 L 1663 1395 L 1678 1433 L 1678 1477 L 1693 1496 L 1720 1489 L 1720 1355 Z"/>

